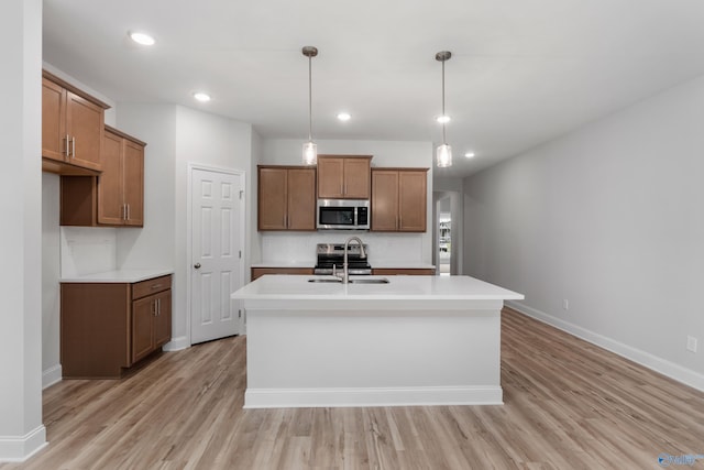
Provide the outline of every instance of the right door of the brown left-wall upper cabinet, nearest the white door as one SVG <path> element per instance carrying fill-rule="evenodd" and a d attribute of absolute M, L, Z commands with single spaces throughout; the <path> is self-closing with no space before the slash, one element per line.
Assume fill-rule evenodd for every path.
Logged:
<path fill-rule="evenodd" d="M 144 225 L 144 146 L 124 140 L 122 146 L 122 194 L 127 205 L 125 226 Z"/>

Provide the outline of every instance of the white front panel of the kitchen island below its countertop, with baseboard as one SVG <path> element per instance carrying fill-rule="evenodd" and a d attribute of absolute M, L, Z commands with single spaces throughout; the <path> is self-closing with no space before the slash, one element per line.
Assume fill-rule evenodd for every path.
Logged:
<path fill-rule="evenodd" d="M 245 407 L 501 403 L 501 305 L 248 308 Z"/>

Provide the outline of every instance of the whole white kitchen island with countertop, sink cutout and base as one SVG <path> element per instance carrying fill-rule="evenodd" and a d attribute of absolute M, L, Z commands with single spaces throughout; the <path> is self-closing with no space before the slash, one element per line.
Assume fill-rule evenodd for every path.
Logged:
<path fill-rule="evenodd" d="M 501 309 L 521 294 L 469 276 L 311 278 L 324 280 L 265 275 L 232 294 L 245 408 L 503 403 Z"/>

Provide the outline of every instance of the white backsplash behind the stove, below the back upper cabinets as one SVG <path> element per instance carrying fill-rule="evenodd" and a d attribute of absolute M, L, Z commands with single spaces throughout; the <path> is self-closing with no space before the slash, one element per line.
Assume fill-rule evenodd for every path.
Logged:
<path fill-rule="evenodd" d="M 422 259 L 422 238 L 417 233 L 373 233 L 365 231 L 266 232 L 262 234 L 262 261 L 316 264 L 316 244 L 344 243 L 356 236 L 369 245 L 369 262 L 428 263 Z"/>

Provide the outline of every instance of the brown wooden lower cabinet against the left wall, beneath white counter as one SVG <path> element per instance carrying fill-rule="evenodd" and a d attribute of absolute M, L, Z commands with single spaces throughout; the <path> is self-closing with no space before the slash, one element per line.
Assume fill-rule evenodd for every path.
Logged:
<path fill-rule="evenodd" d="M 139 283 L 63 283 L 64 379 L 119 379 L 170 340 L 172 276 Z"/>

